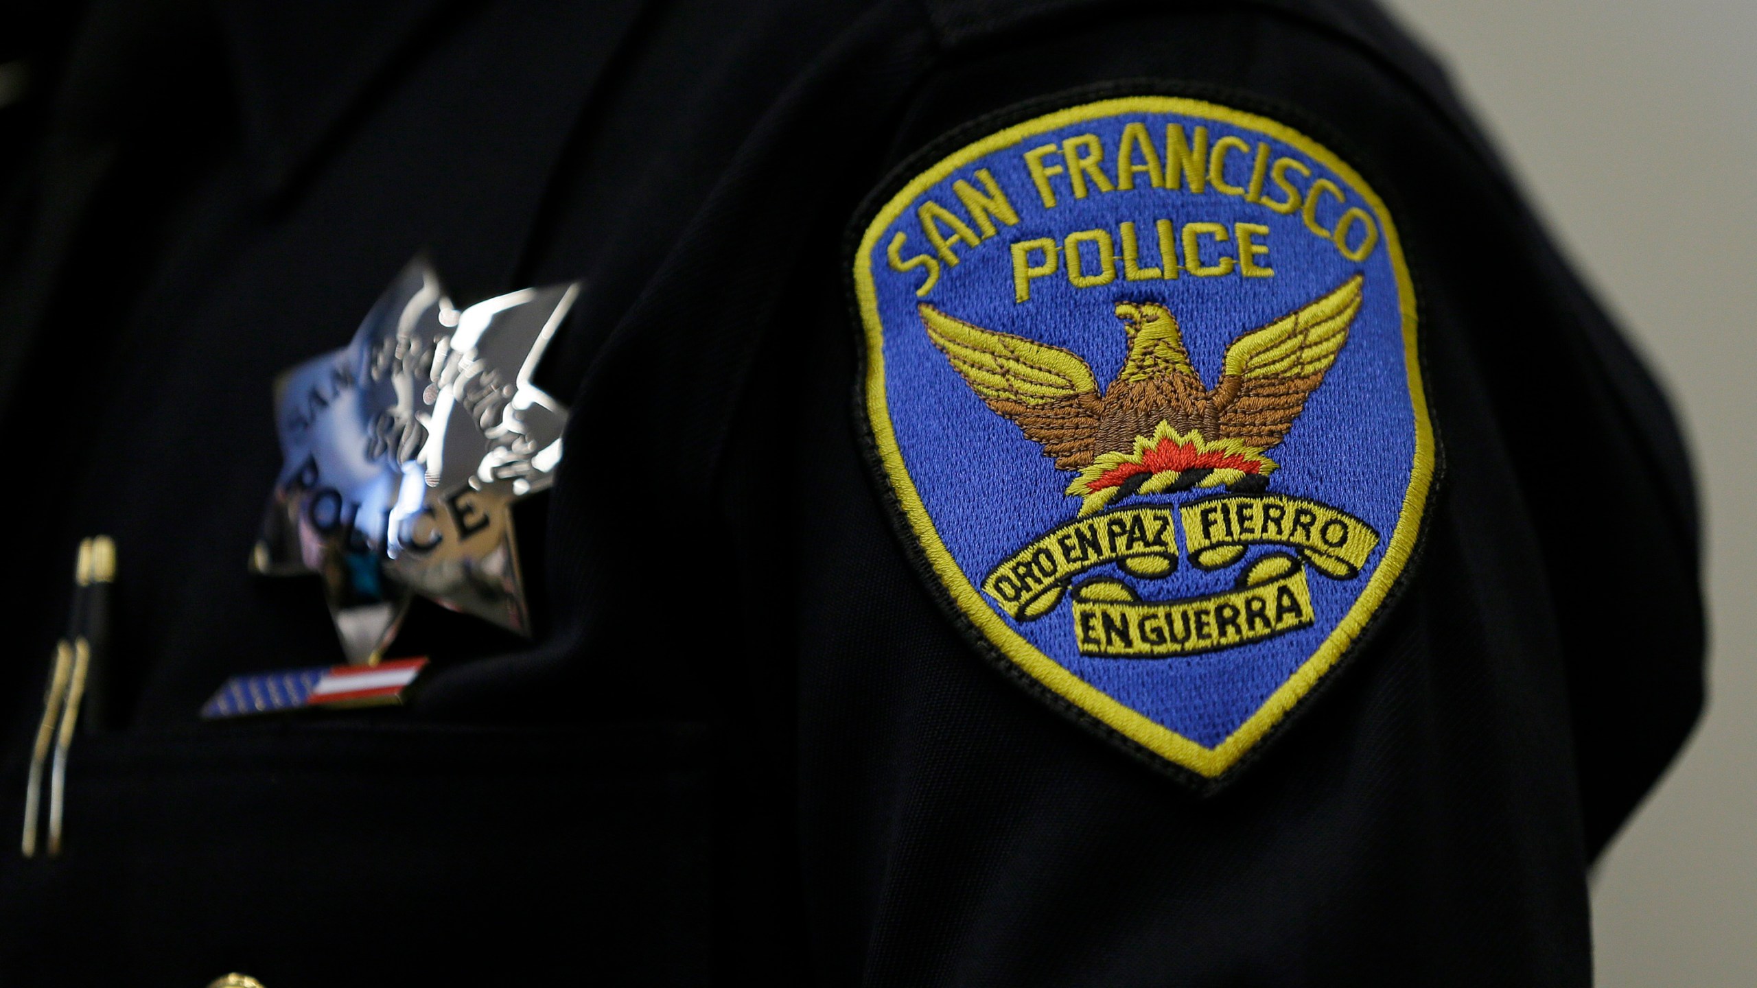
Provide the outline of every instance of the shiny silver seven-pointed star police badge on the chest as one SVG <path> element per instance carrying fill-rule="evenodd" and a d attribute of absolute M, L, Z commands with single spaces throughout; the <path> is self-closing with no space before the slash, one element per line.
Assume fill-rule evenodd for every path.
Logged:
<path fill-rule="evenodd" d="M 423 258 L 348 346 L 276 380 L 286 457 L 251 570 L 316 573 L 350 663 L 423 598 L 531 635 L 513 503 L 546 489 L 568 410 L 531 383 L 578 283 L 457 309 Z"/>

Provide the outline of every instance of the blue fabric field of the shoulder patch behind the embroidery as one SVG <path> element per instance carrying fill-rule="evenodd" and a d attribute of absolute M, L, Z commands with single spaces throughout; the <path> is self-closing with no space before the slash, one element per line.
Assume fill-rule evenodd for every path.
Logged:
<path fill-rule="evenodd" d="M 1112 306 L 1119 301 L 1158 301 L 1177 318 L 1197 371 L 1212 387 L 1219 380 L 1226 346 L 1242 332 L 1316 301 L 1356 271 L 1365 272 L 1362 311 L 1349 327 L 1349 339 L 1335 366 L 1305 403 L 1305 411 L 1286 440 L 1269 450 L 1269 457 L 1279 464 L 1270 475 L 1270 490 L 1334 505 L 1379 533 L 1367 566 L 1353 580 L 1332 580 L 1307 566 L 1316 617 L 1311 628 L 1200 656 L 1098 659 L 1084 657 L 1075 649 L 1072 594 L 1035 621 L 1014 621 L 993 607 L 987 594 L 980 594 L 1001 621 L 1072 673 L 1151 721 L 1214 747 L 1330 636 L 1377 570 L 1397 527 L 1416 448 L 1399 285 L 1383 230 L 1372 253 L 1362 262 L 1351 262 L 1334 243 L 1312 234 L 1298 211 L 1283 216 L 1212 186 L 1200 195 L 1182 188 L 1174 192 L 1147 186 L 1109 193 L 1091 188 L 1086 199 L 1075 199 L 1066 176 L 1052 176 L 1049 181 L 1058 204 L 1045 209 L 1026 171 L 1024 151 L 1096 134 L 1105 148 L 1102 167 L 1114 179 L 1117 139 L 1132 121 L 1146 123 L 1161 156 L 1167 123 L 1182 123 L 1189 135 L 1195 127 L 1207 127 L 1211 146 L 1225 135 L 1244 139 L 1251 153 L 1233 149 L 1226 156 L 1225 178 L 1237 186 L 1247 185 L 1254 148 L 1267 141 L 1270 162 L 1291 156 L 1311 169 L 1311 178 L 1288 176 L 1297 188 L 1305 190 L 1311 181 L 1328 178 L 1342 190 L 1346 204 L 1337 204 L 1332 197 L 1321 199 L 1318 218 L 1325 227 L 1334 227 L 1348 206 L 1360 206 L 1379 222 L 1370 204 L 1342 176 L 1290 144 L 1223 121 L 1170 113 L 1126 113 L 1031 135 L 958 169 L 912 200 L 873 241 L 871 272 L 884 325 L 886 397 L 908 475 L 952 559 L 980 594 L 982 578 L 996 563 L 1079 512 L 1079 498 L 1063 494 L 1075 475 L 1056 469 L 1042 447 L 1026 440 L 1017 425 L 991 411 L 970 390 L 928 339 L 915 311 L 917 302 L 933 304 L 984 329 L 1072 350 L 1091 364 L 1103 387 L 1126 357 L 1123 322 L 1112 315 Z M 1065 165 L 1059 153 L 1045 162 Z M 915 218 L 917 206 L 933 199 L 966 216 L 952 193 L 952 183 L 966 179 L 980 190 L 982 185 L 973 178 L 977 169 L 993 172 L 1019 211 L 1019 223 L 1007 227 L 996 222 L 998 236 L 977 248 L 952 244 L 959 264 L 942 265 L 940 281 L 917 299 L 922 269 L 893 271 L 886 260 L 886 246 L 896 232 L 903 232 L 908 239 L 901 257 L 933 253 Z M 1147 181 L 1144 172 L 1135 178 L 1137 183 Z M 1263 197 L 1279 200 L 1284 193 L 1265 181 Z M 1063 267 L 1052 276 L 1033 280 L 1028 302 L 1014 302 L 1009 244 L 1033 237 L 1054 237 L 1059 243 L 1070 232 L 1095 227 L 1107 229 L 1116 237 L 1117 223 L 1133 220 L 1140 234 L 1140 264 L 1151 267 L 1158 264 L 1154 222 L 1160 218 L 1170 218 L 1179 227 L 1186 222 L 1218 222 L 1228 229 L 1235 222 L 1263 223 L 1270 229 L 1265 239 L 1270 253 L 1262 264 L 1274 267 L 1276 274 L 1193 278 L 1181 272 L 1174 281 L 1124 281 L 1119 262 L 1110 285 L 1074 288 Z M 1358 229 L 1353 234 L 1358 237 Z M 1204 257 L 1211 264 L 1218 253 L 1235 255 L 1235 248 L 1237 243 L 1226 243 L 1216 251 L 1212 237 L 1204 237 Z M 1119 241 L 1117 251 L 1121 253 Z M 1216 492 L 1223 489 L 1132 498 L 1117 506 L 1184 505 Z M 1179 533 L 1181 554 L 1184 545 Z M 1254 548 L 1239 563 L 1216 571 L 1200 571 L 1188 556 L 1181 556 L 1177 571 L 1156 580 L 1128 577 L 1116 566 L 1096 568 L 1088 577 L 1121 578 L 1142 599 L 1181 599 L 1230 589 L 1244 566 L 1274 550 Z"/>

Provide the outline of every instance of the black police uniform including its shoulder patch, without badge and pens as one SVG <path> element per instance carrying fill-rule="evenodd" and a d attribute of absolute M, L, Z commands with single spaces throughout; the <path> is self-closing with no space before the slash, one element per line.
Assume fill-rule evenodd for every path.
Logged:
<path fill-rule="evenodd" d="M 81 25 L 0 244 L 7 821 L 116 575 L 0 981 L 1590 981 L 1701 705 L 1688 464 L 1376 9 Z M 343 663 L 248 566 L 274 381 L 416 255 L 580 285 L 529 626 L 418 598 L 402 705 L 202 719 Z"/>

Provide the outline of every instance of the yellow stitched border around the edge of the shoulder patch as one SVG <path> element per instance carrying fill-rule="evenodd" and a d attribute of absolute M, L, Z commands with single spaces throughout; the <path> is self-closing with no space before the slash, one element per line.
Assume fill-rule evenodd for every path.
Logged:
<path fill-rule="evenodd" d="M 1074 123 L 1124 113 L 1175 113 L 1254 130 L 1298 148 L 1312 160 L 1344 178 L 1372 207 L 1379 222 L 1379 229 L 1385 232 L 1385 246 L 1390 251 L 1392 269 L 1397 274 L 1399 309 L 1402 311 L 1404 320 L 1404 366 L 1409 374 L 1409 403 L 1416 417 L 1416 452 L 1414 462 L 1411 464 L 1409 489 L 1404 492 L 1402 512 L 1397 519 L 1397 529 L 1392 533 L 1385 548 L 1385 559 L 1379 563 L 1379 568 L 1372 573 L 1372 578 L 1355 599 L 1355 605 L 1346 615 L 1342 615 L 1342 621 L 1337 622 L 1335 631 L 1325 638 L 1318 650 L 1314 650 L 1312 656 L 1305 659 L 1305 663 L 1302 663 L 1300 668 L 1295 670 L 1295 673 L 1283 682 L 1263 701 L 1263 705 L 1256 708 L 1254 714 L 1251 714 L 1249 719 L 1246 719 L 1216 747 L 1204 747 L 1170 728 L 1160 726 L 1130 707 L 1112 700 L 1100 689 L 1086 684 L 1086 680 L 1079 679 L 1065 666 L 1040 652 L 1019 633 L 1016 633 L 1000 615 L 989 610 L 977 587 L 952 561 L 951 552 L 945 548 L 945 543 L 940 540 L 940 534 L 933 526 L 933 519 L 928 515 L 928 508 L 921 501 L 921 494 L 915 490 L 914 480 L 908 476 L 901 450 L 896 445 L 896 432 L 891 425 L 889 403 L 886 401 L 884 325 L 878 322 L 878 299 L 871 272 L 871 260 L 875 248 L 878 246 L 878 236 L 898 216 L 901 216 L 903 209 L 914 202 L 915 197 L 959 167 L 984 155 L 1017 146 L 1028 137 L 1044 134 L 1045 130 L 1056 130 Z M 1332 666 L 1335 666 L 1337 661 L 1341 661 L 1349 645 L 1353 645 L 1365 629 L 1372 614 L 1381 603 L 1385 603 L 1392 587 L 1397 584 L 1397 577 L 1402 575 L 1404 566 L 1409 563 L 1409 556 L 1414 552 L 1421 517 L 1427 510 L 1428 489 L 1434 483 L 1435 459 L 1434 425 L 1428 420 L 1427 392 L 1421 385 L 1421 364 L 1416 350 L 1414 283 L 1411 281 L 1409 267 L 1404 262 L 1402 241 L 1397 236 L 1397 227 L 1392 223 L 1390 211 L 1385 207 L 1385 202 L 1377 197 L 1372 186 L 1369 186 L 1365 179 L 1355 172 L 1355 169 L 1335 156 L 1328 148 L 1298 130 L 1293 130 L 1291 127 L 1207 100 L 1156 95 L 1095 100 L 1007 127 L 1005 130 L 966 144 L 936 162 L 928 171 L 917 174 L 896 195 L 893 195 L 882 209 L 878 209 L 877 216 L 866 227 L 859 243 L 859 251 L 854 258 L 854 292 L 861 313 L 861 323 L 866 332 L 866 418 L 878 447 L 878 457 L 884 462 L 886 475 L 891 480 L 891 487 L 896 492 L 898 501 L 901 503 L 903 515 L 908 519 L 908 526 L 915 533 L 915 540 L 921 543 L 928 563 L 931 563 L 933 571 L 945 585 L 952 601 L 958 605 L 958 610 L 963 612 L 965 617 L 968 617 L 977 629 L 980 629 L 982 635 L 1014 665 L 1030 673 L 1031 679 L 1056 691 L 1103 724 L 1109 724 L 1123 737 L 1175 765 L 1189 768 L 1191 772 L 1209 779 L 1216 779 L 1233 766 L 1246 751 L 1262 740 L 1263 735 L 1267 735 L 1270 728 L 1274 728 L 1288 714 L 1288 710 L 1291 710 L 1293 705 L 1298 703 L 1300 698 L 1304 698 L 1312 686 L 1316 686 L 1318 680 L 1330 672 Z"/>

